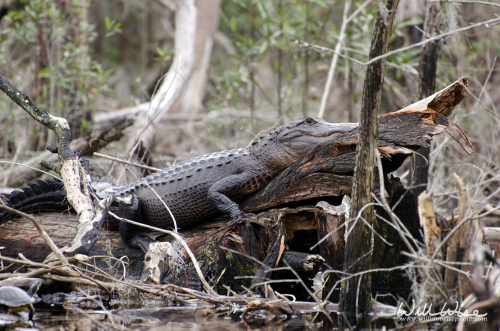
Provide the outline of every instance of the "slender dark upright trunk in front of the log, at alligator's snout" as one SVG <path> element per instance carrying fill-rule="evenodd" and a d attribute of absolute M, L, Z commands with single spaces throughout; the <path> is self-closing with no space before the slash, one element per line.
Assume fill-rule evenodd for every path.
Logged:
<path fill-rule="evenodd" d="M 388 0 L 383 4 L 379 3 L 370 45 L 370 59 L 387 52 L 398 2 L 399 0 Z M 349 225 L 343 261 L 343 270 L 347 274 L 355 274 L 371 267 L 372 233 L 363 221 L 368 224 L 373 223 L 373 208 L 365 205 L 371 202 L 378 130 L 377 116 L 380 113 L 384 72 L 385 58 L 381 58 L 368 65 L 364 78 L 350 211 L 354 220 Z M 363 278 L 362 281 L 360 277 Z M 347 278 L 342 283 L 339 304 L 340 310 L 347 313 L 341 318 L 341 328 L 369 327 L 366 313 L 371 307 L 370 274 Z M 358 314 L 364 314 L 365 317 L 358 319 Z"/>

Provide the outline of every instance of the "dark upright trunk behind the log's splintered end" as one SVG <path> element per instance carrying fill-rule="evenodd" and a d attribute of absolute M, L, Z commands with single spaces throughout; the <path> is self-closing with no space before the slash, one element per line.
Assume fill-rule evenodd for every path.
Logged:
<path fill-rule="evenodd" d="M 439 2 L 427 2 L 425 5 L 425 20 L 423 23 L 424 38 L 430 38 L 439 34 Z M 439 40 L 427 42 L 422 46 L 420 52 L 420 64 L 418 66 L 418 99 L 434 93 L 437 53 L 439 50 Z M 430 147 L 422 147 L 418 150 L 421 156 L 414 159 L 414 187 L 411 189 L 413 195 L 418 197 L 421 192 L 427 189 L 429 175 L 428 159 Z"/>

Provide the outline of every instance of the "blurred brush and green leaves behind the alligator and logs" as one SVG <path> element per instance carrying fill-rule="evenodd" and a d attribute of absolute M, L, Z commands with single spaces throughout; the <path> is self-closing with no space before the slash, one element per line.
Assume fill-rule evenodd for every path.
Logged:
<path fill-rule="evenodd" d="M 39 106 L 68 119 L 73 138 L 106 123 L 97 113 L 149 100 L 174 48 L 174 2 L 168 0 L 10 0 L 0 2 L 0 74 Z M 363 1 L 352 1 L 350 12 Z M 154 165 L 245 146 L 273 126 L 318 113 L 343 1 L 221 0 L 218 30 L 199 108 L 171 114 L 151 150 Z M 366 61 L 375 0 L 346 28 L 341 53 Z M 401 0 L 389 50 L 421 40 L 423 0 Z M 493 18 L 498 4 L 443 2 L 443 32 Z M 443 136 L 435 139 L 429 189 L 449 202 L 457 172 L 480 203 L 498 202 L 500 164 L 500 25 L 452 34 L 440 44 L 436 90 L 470 76 L 470 94 L 452 115 L 476 146 L 475 158 Z M 388 57 L 384 111 L 416 101 L 419 47 Z M 357 121 L 365 67 L 340 58 L 324 118 Z M 0 159 L 23 162 L 53 143 L 53 135 L 0 95 Z M 124 153 L 123 143 L 108 146 Z M 97 164 L 97 163 L 94 163 Z M 0 167 L 6 166 L 5 163 Z M 105 174 L 94 165 L 94 174 Z M 405 172 L 406 171 L 406 172 Z M 408 181 L 411 169 L 399 175 Z M 8 178 L 0 185 L 8 186 Z M 447 187 L 447 188 L 446 188 Z"/>

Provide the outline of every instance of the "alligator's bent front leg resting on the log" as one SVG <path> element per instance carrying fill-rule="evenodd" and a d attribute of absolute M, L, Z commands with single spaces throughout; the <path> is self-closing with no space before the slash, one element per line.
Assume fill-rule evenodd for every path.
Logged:
<path fill-rule="evenodd" d="M 239 205 L 229 196 L 242 196 L 256 191 L 265 184 L 260 175 L 255 173 L 238 173 L 215 182 L 208 189 L 208 201 L 219 211 L 228 214 L 231 220 L 245 216 Z"/>

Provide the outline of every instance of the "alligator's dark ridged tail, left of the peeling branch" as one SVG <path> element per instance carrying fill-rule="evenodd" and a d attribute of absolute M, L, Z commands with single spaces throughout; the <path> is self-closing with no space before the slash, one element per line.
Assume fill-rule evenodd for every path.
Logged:
<path fill-rule="evenodd" d="M 3 202 L 14 209 L 26 212 L 64 211 L 70 208 L 66 200 L 64 185 L 59 179 L 37 179 L 21 186 L 10 194 L 1 195 Z M 17 217 L 0 204 L 0 224 Z"/>

